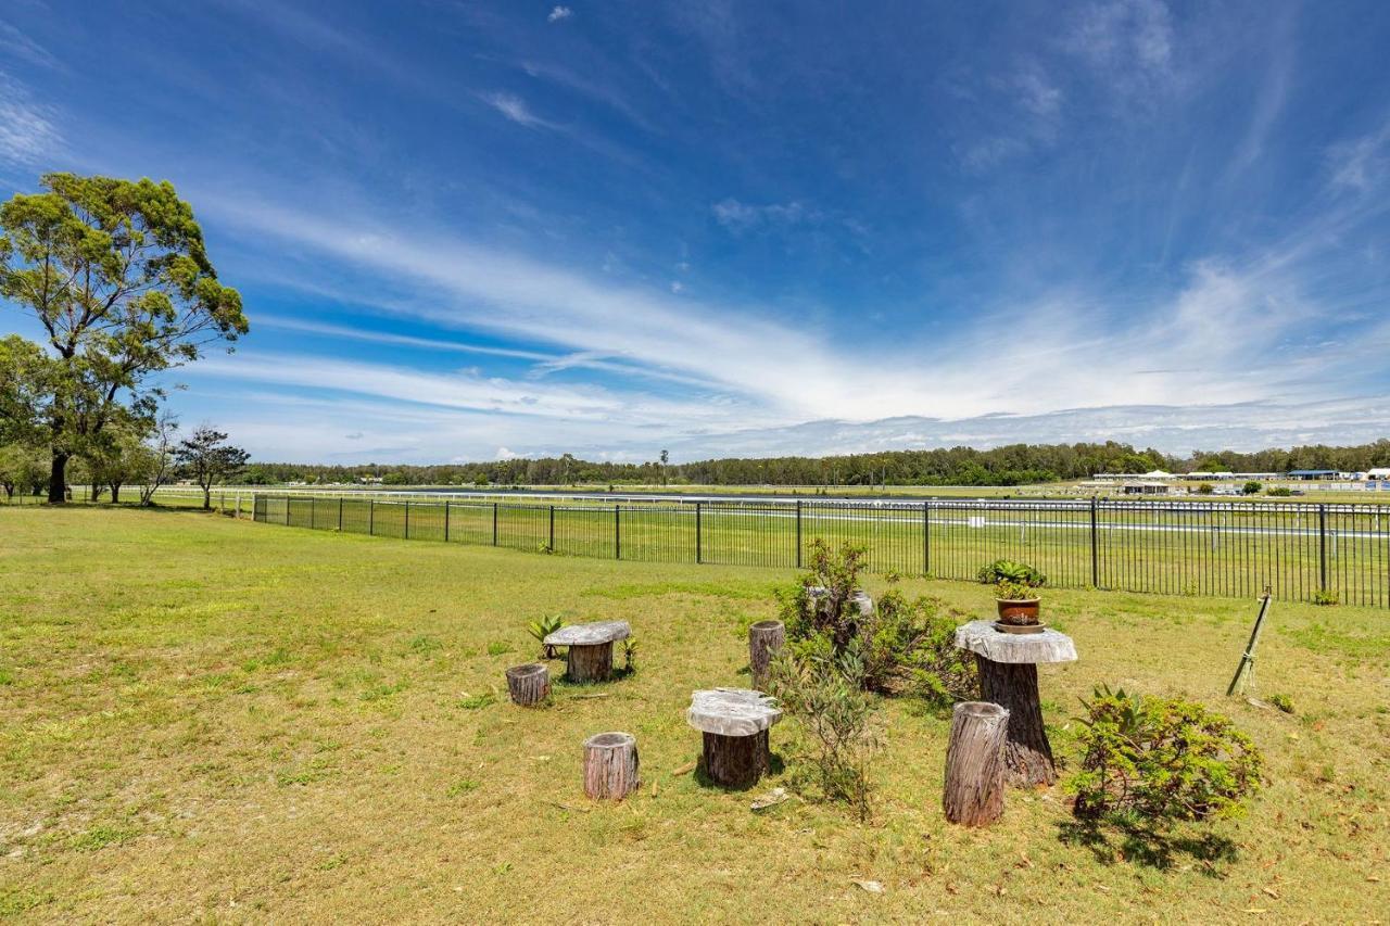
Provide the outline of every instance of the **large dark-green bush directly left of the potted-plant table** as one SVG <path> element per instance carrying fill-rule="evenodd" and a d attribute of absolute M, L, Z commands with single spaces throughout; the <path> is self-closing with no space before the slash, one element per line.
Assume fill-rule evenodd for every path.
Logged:
<path fill-rule="evenodd" d="M 959 616 L 933 598 L 909 601 L 892 587 L 895 580 L 866 613 L 856 596 L 863 555 L 862 546 L 835 551 L 812 541 L 810 571 L 780 594 L 791 655 L 815 659 L 828 652 L 838 659 L 853 648 L 863 663 L 860 684 L 869 691 L 922 694 L 933 705 L 973 697 L 974 658 L 955 647 Z"/>

